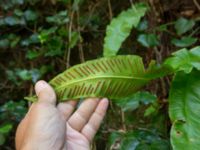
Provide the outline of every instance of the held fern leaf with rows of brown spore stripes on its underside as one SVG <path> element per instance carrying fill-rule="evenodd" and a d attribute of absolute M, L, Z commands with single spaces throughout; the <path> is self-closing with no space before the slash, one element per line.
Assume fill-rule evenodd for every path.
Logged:
<path fill-rule="evenodd" d="M 154 78 L 146 74 L 148 70 L 144 69 L 141 57 L 115 56 L 76 65 L 49 83 L 60 101 L 86 97 L 120 99 L 132 95 Z"/>

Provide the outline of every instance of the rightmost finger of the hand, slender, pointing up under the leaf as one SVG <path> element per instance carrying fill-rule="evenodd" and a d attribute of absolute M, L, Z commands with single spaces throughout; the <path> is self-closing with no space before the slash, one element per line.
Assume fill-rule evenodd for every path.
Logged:
<path fill-rule="evenodd" d="M 92 141 L 94 138 L 96 132 L 98 131 L 100 124 L 106 114 L 106 110 L 108 108 L 108 99 L 104 98 L 102 99 L 95 112 L 91 116 L 90 120 L 88 123 L 83 127 L 81 133 L 89 140 Z"/>

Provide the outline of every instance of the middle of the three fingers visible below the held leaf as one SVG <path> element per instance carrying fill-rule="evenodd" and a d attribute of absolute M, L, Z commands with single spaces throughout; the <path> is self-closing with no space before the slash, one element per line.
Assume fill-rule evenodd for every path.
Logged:
<path fill-rule="evenodd" d="M 69 125 L 75 130 L 81 131 L 96 109 L 98 103 L 98 98 L 89 98 L 83 101 L 78 110 L 69 118 Z"/>

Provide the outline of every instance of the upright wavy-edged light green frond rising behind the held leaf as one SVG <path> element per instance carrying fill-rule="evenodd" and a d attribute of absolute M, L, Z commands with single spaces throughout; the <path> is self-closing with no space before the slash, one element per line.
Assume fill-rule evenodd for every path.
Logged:
<path fill-rule="evenodd" d="M 119 51 L 122 42 L 129 36 L 131 29 L 137 27 L 145 15 L 147 5 L 138 3 L 112 19 L 106 29 L 104 39 L 104 56 L 114 56 Z"/>

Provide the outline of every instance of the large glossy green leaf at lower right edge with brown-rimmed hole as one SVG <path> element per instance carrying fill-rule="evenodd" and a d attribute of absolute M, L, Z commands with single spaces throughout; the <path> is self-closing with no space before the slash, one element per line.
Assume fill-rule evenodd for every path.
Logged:
<path fill-rule="evenodd" d="M 169 115 L 172 121 L 171 144 L 174 150 L 200 147 L 200 72 L 176 74 L 170 89 Z"/>

